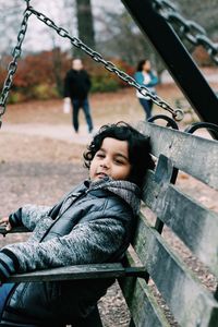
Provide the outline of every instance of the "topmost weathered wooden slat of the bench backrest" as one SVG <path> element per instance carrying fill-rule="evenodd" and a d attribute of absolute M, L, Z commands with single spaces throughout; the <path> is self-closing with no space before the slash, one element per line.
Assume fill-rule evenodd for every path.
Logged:
<path fill-rule="evenodd" d="M 152 152 L 172 159 L 173 165 L 218 190 L 218 142 L 140 122 L 137 129 L 150 136 Z"/>

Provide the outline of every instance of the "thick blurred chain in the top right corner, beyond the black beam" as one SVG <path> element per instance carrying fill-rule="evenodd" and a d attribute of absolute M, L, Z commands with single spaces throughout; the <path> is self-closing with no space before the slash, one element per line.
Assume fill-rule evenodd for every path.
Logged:
<path fill-rule="evenodd" d="M 197 23 L 185 20 L 177 8 L 168 0 L 153 1 L 157 12 L 169 23 L 179 26 L 181 35 L 193 46 L 203 46 L 213 61 L 218 64 L 218 44 L 213 43 L 206 31 Z"/>

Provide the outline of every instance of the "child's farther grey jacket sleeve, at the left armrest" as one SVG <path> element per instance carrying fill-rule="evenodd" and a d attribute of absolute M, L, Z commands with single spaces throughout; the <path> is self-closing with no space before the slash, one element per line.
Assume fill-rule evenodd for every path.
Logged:
<path fill-rule="evenodd" d="M 33 231 L 37 222 L 47 217 L 51 207 L 25 205 L 19 208 L 15 213 L 9 216 L 9 221 L 12 227 L 25 226 L 29 231 Z"/>

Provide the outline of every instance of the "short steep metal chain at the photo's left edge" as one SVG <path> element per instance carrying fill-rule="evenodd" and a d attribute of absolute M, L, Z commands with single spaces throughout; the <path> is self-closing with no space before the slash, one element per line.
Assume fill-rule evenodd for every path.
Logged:
<path fill-rule="evenodd" d="M 26 34 L 26 29 L 27 29 L 27 22 L 28 22 L 28 17 L 31 16 L 31 14 L 32 14 L 32 12 L 28 9 L 25 10 L 24 17 L 23 17 L 23 21 L 21 24 L 21 29 L 17 35 L 17 44 L 12 52 L 13 60 L 9 63 L 9 66 L 8 66 L 8 75 L 5 77 L 2 93 L 0 96 L 0 128 L 1 128 L 1 117 L 5 112 L 7 99 L 9 96 L 9 92 L 12 87 L 13 75 L 15 74 L 16 69 L 17 69 L 17 59 L 21 57 L 22 44 L 25 38 L 25 34 Z"/>

